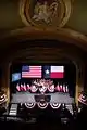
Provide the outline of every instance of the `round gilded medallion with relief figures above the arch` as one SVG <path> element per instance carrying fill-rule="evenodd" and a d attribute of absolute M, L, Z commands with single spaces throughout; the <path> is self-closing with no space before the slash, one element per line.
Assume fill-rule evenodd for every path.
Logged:
<path fill-rule="evenodd" d="M 26 26 L 63 27 L 71 15 L 71 0 L 21 0 L 20 15 Z"/>

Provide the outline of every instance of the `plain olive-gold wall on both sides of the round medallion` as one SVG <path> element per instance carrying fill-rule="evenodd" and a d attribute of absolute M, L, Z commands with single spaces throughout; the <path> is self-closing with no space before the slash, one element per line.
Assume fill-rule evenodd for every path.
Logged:
<path fill-rule="evenodd" d="M 64 27 L 87 35 L 87 0 L 73 0 L 73 11 Z M 25 24 L 20 16 L 20 0 L 0 0 L 0 30 L 1 35 Z"/>

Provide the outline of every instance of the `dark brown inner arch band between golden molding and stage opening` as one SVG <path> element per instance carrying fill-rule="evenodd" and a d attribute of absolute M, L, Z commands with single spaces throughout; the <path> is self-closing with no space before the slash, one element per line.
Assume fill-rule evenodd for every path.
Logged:
<path fill-rule="evenodd" d="M 20 44 L 21 46 L 21 44 Z M 26 44 L 25 44 L 26 46 Z M 13 47 L 14 48 L 14 47 Z M 62 48 L 47 48 L 47 47 L 26 47 L 27 49 L 23 49 L 22 46 L 17 50 L 17 47 L 15 50 L 11 51 L 9 50 L 9 53 L 2 58 L 1 63 L 5 62 L 23 62 L 23 61 L 52 61 L 57 62 L 60 60 L 70 60 L 70 61 L 84 61 L 83 55 L 75 49 L 62 49 Z M 11 51 L 11 52 L 10 52 Z"/>

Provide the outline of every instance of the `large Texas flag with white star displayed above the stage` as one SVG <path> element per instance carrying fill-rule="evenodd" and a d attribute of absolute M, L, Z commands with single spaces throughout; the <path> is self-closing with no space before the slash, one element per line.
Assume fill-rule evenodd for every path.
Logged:
<path fill-rule="evenodd" d="M 64 66 L 45 66 L 44 78 L 64 78 Z"/>

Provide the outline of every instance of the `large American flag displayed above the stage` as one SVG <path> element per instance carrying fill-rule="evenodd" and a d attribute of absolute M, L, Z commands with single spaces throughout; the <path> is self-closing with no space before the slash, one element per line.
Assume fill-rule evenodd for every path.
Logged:
<path fill-rule="evenodd" d="M 41 66 L 22 66 L 22 78 L 41 78 Z"/>

